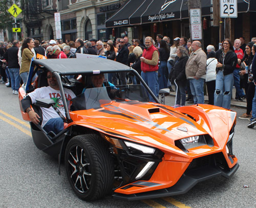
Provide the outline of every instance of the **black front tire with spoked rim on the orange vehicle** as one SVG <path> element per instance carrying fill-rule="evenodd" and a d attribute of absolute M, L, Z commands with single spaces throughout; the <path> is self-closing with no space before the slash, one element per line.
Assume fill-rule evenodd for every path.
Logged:
<path fill-rule="evenodd" d="M 114 163 L 108 147 L 98 135 L 73 137 L 65 151 L 65 168 L 75 194 L 86 201 L 111 193 Z"/>

